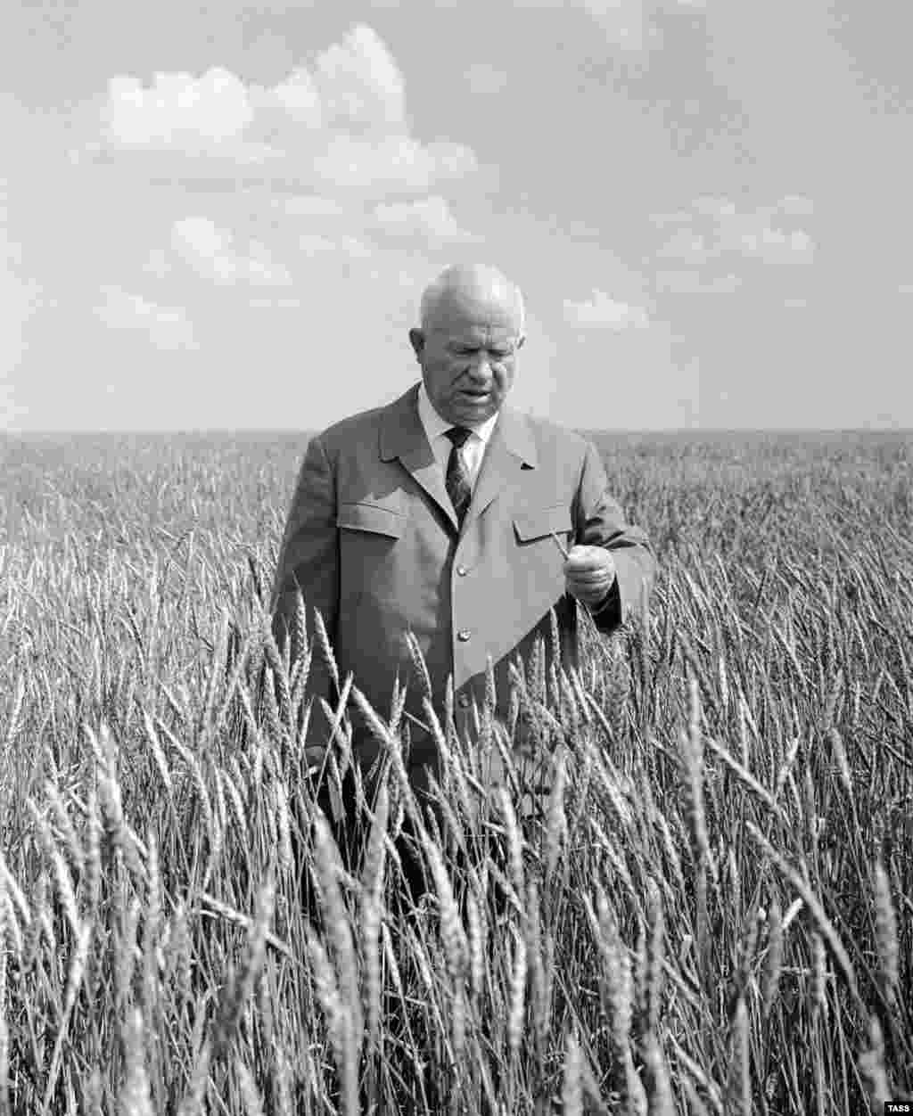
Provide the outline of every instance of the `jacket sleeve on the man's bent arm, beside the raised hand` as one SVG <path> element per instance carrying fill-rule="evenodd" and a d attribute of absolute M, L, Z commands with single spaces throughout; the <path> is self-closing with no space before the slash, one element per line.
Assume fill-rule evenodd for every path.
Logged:
<path fill-rule="evenodd" d="M 647 598 L 656 576 L 656 558 L 646 533 L 625 522 L 621 506 L 608 493 L 605 468 L 587 442 L 575 507 L 575 539 L 579 546 L 605 547 L 615 560 L 616 580 L 607 600 L 593 613 L 600 632 L 613 632 Z"/>

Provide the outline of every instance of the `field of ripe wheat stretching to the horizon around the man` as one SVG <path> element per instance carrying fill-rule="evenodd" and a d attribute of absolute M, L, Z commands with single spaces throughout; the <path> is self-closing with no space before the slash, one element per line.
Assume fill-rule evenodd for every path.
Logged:
<path fill-rule="evenodd" d="M 302 778 L 302 671 L 266 636 L 304 440 L 0 442 L 0 1112 L 910 1098 L 910 440 L 598 444 L 660 558 L 651 613 L 585 629 L 574 676 L 547 647 L 516 675 L 556 764 L 541 821 L 471 801 L 435 711 L 446 826 L 410 910 L 397 700 L 349 875 Z M 488 705 L 479 732 L 509 744 Z"/>

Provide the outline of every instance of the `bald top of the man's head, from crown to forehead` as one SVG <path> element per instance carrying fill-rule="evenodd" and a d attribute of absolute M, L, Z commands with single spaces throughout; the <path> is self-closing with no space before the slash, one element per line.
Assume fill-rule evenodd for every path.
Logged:
<path fill-rule="evenodd" d="M 458 317 L 483 316 L 513 330 L 517 339 L 526 326 L 523 296 L 503 272 L 487 263 L 454 263 L 422 295 L 422 331 L 446 328 Z"/>

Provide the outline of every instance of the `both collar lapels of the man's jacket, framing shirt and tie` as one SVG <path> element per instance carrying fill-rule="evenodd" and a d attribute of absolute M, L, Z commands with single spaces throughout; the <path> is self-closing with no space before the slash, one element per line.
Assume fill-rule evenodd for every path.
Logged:
<path fill-rule="evenodd" d="M 443 472 L 431 452 L 419 417 L 417 384 L 386 408 L 381 422 L 381 460 L 396 459 L 444 512 L 456 531 L 456 514 L 444 488 Z M 463 526 L 481 516 L 523 465 L 535 469 L 536 464 L 536 442 L 529 424 L 519 412 L 502 407 L 482 459 Z"/>

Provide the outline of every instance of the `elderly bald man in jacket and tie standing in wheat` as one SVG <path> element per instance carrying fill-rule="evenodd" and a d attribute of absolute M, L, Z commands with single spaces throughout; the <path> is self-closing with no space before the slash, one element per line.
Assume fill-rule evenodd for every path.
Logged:
<path fill-rule="evenodd" d="M 523 339 L 522 297 L 499 271 L 445 270 L 410 331 L 421 383 L 311 439 L 288 516 L 271 605 L 277 641 L 288 637 L 300 586 L 342 676 L 352 671 L 376 709 L 390 709 L 397 675 L 409 682 L 416 789 L 436 757 L 415 729 L 424 714 L 406 632 L 435 703 L 452 675 L 464 731 L 473 696 L 482 704 L 489 656 L 507 716 L 508 662 L 547 636 L 552 607 L 573 661 L 576 602 L 609 633 L 654 576 L 646 537 L 606 491 L 594 446 L 507 405 Z M 566 560 L 552 536 L 569 547 Z M 326 672 L 313 670 L 314 692 L 335 704 Z M 353 752 L 366 768 L 378 745 L 355 713 L 353 722 Z M 327 737 L 315 709 L 311 747 Z"/>

